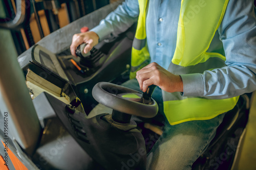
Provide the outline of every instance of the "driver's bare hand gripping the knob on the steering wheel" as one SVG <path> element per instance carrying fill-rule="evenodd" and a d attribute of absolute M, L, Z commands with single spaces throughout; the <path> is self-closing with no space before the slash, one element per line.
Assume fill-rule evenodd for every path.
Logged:
<path fill-rule="evenodd" d="M 183 92 L 181 77 L 170 73 L 155 62 L 137 71 L 136 79 L 143 92 L 152 84 L 159 86 L 162 90 L 167 92 Z"/>

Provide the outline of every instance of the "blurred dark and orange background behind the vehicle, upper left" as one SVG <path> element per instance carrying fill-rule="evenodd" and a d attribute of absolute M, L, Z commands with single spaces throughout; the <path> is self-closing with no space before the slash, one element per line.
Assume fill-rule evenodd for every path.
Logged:
<path fill-rule="evenodd" d="M 19 56 L 41 38 L 62 28 L 72 21 L 87 15 L 116 0 L 25 0 L 26 24 L 17 29 L 0 28 L 0 50 L 2 55 Z M 120 3 L 120 2 L 119 2 Z M 12 20 L 16 16 L 15 0 L 0 0 L 1 20 Z M 86 24 L 86 23 L 85 23 Z"/>

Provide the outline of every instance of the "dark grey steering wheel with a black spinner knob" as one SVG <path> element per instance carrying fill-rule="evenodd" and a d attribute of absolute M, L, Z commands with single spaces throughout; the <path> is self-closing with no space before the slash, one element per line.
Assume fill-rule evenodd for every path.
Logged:
<path fill-rule="evenodd" d="M 99 82 L 93 87 L 94 99 L 113 110 L 141 117 L 154 117 L 158 105 L 151 95 L 155 89 L 150 86 L 145 93 L 107 82 Z"/>

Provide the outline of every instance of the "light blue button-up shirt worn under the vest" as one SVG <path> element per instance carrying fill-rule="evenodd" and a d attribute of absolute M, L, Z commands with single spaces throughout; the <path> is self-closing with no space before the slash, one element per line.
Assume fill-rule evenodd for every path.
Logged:
<path fill-rule="evenodd" d="M 206 3 L 206 1 L 202 0 Z M 167 69 L 175 52 L 181 0 L 149 1 L 146 35 L 151 62 Z M 184 96 L 225 99 L 256 89 L 256 18 L 253 0 L 230 0 L 211 52 L 226 56 L 226 66 L 203 74 L 180 75 Z M 138 0 L 127 0 L 91 31 L 100 40 L 117 36 L 138 20 Z M 224 48 L 224 51 L 223 51 Z M 221 50 L 220 50 L 221 49 Z"/>

